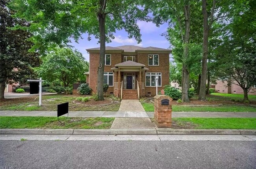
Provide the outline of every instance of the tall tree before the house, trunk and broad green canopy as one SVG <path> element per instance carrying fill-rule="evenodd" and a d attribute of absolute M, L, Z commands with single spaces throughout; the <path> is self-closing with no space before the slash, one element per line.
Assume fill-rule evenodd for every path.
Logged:
<path fill-rule="evenodd" d="M 17 16 L 31 22 L 34 49 L 46 50 L 49 45 L 78 40 L 82 33 L 95 35 L 100 42 L 97 92 L 103 100 L 105 44 L 116 29 L 125 29 L 128 37 L 141 42 L 137 20 L 148 20 L 137 0 L 13 0 Z"/>

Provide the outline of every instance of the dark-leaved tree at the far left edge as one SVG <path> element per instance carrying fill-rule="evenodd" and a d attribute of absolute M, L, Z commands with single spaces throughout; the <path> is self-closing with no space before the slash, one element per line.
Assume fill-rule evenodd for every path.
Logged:
<path fill-rule="evenodd" d="M 8 0 L 0 1 L 0 99 L 4 99 L 7 83 L 26 81 L 34 77 L 32 67 L 40 64 L 39 55 L 28 52 L 33 45 L 28 40 L 31 34 L 28 31 L 12 29 L 18 24 L 29 26 L 29 23 L 12 17 L 15 11 L 7 7 L 8 2 Z"/>

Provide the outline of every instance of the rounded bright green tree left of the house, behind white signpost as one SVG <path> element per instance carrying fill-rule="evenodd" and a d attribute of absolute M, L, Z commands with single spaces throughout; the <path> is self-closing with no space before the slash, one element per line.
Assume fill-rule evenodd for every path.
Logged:
<path fill-rule="evenodd" d="M 70 48 L 56 48 L 43 57 L 43 64 L 37 69 L 40 77 L 52 82 L 58 79 L 64 87 L 69 87 L 84 77 L 89 70 L 82 53 Z"/>

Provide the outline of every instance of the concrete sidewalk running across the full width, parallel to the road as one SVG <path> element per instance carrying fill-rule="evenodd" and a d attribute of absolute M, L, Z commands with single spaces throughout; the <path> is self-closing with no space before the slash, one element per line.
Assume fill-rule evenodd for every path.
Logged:
<path fill-rule="evenodd" d="M 51 116 L 57 111 L 0 111 L 0 116 Z M 67 115 L 65 115 L 67 116 Z M 69 111 L 69 117 L 153 118 L 154 112 Z M 173 118 L 256 118 L 256 112 L 172 112 Z"/>

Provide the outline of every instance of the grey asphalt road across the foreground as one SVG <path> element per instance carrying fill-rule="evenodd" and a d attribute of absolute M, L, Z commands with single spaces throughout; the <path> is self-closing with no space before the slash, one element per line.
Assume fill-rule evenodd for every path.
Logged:
<path fill-rule="evenodd" d="M 256 141 L 0 141 L 0 151 L 8 169 L 256 168 Z"/>

